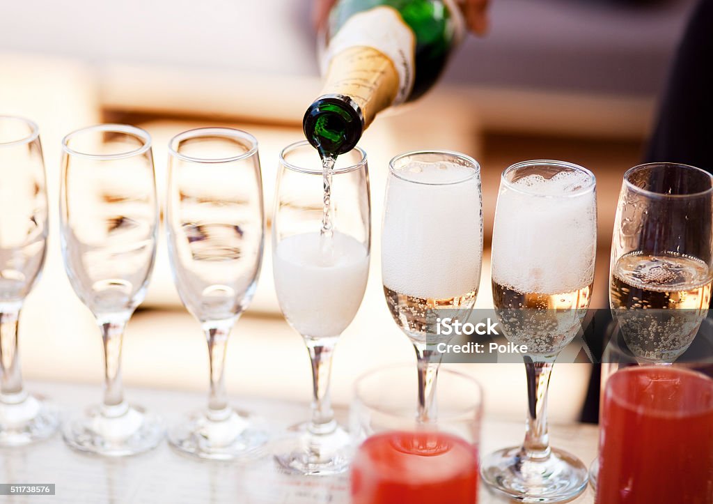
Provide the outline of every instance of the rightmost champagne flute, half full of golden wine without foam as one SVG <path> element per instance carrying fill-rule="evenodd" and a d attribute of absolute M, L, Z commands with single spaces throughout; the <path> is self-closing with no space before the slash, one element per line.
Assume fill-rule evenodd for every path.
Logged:
<path fill-rule="evenodd" d="M 648 163 L 624 174 L 609 303 L 640 363 L 670 364 L 706 318 L 713 281 L 713 176 Z"/>

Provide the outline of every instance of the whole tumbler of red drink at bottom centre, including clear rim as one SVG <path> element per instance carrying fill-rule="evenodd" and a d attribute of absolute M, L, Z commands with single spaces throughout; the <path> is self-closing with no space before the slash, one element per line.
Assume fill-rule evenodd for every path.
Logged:
<path fill-rule="evenodd" d="M 477 502 L 480 385 L 441 369 L 426 421 L 418 386 L 410 365 L 356 382 L 350 423 L 361 445 L 352 462 L 352 504 Z"/>

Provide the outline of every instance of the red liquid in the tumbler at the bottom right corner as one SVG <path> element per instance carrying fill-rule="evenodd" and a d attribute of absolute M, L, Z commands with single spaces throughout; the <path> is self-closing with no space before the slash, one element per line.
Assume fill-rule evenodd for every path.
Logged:
<path fill-rule="evenodd" d="M 713 380 L 658 366 L 614 373 L 599 463 L 598 504 L 712 504 Z"/>

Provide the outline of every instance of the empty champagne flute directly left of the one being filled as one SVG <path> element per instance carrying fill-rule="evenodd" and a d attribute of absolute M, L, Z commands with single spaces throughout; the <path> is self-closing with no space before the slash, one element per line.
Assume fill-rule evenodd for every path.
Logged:
<path fill-rule="evenodd" d="M 207 409 L 168 433 L 176 448 L 231 460 L 265 443 L 228 404 L 223 371 L 230 331 L 252 300 L 262 263 L 265 213 L 255 137 L 232 128 L 184 131 L 169 143 L 166 230 L 173 277 L 205 333 Z"/>

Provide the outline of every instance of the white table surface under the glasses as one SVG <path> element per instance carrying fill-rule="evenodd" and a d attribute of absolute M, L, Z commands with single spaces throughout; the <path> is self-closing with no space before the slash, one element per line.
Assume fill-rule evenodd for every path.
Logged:
<path fill-rule="evenodd" d="M 91 400 L 101 398 L 96 386 L 66 383 L 29 383 L 27 389 L 51 398 L 63 415 L 78 413 Z M 205 397 L 175 390 L 126 390 L 128 400 L 163 415 L 167 423 L 201 408 Z M 307 418 L 309 408 L 300 403 L 233 398 L 234 405 L 264 418 L 279 432 Z M 518 443 L 524 425 L 486 418 L 481 433 L 481 453 Z M 554 445 L 589 463 L 596 454 L 597 430 L 591 425 L 551 425 Z M 279 503 L 347 504 L 349 475 L 302 477 L 282 473 L 269 453 L 250 463 L 217 463 L 180 455 L 162 443 L 156 450 L 130 458 L 101 458 L 76 453 L 60 435 L 22 448 L 0 449 L 0 483 L 55 483 L 54 496 L 0 497 L 7 503 Z M 482 485 L 479 504 L 504 503 Z M 592 503 L 586 490 L 575 503 Z"/>

